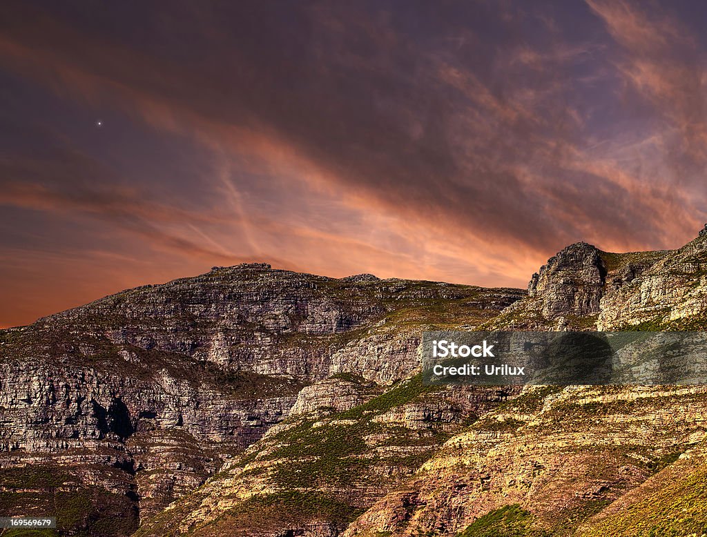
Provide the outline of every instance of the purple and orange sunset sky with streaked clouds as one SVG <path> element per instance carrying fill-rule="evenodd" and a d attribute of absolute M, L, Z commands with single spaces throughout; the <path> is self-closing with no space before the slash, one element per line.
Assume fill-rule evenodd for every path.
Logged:
<path fill-rule="evenodd" d="M 0 326 L 252 261 L 525 287 L 707 222 L 700 1 L 0 12 Z"/>

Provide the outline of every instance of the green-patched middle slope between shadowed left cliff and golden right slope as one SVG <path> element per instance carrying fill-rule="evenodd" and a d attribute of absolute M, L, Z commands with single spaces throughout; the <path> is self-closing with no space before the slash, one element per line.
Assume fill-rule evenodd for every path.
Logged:
<path fill-rule="evenodd" d="M 505 396 L 483 387 L 434 389 L 417 375 L 348 411 L 318 407 L 293 416 L 138 534 L 265 537 L 296 521 L 316 535 L 338 535 Z M 290 521 L 259 517 L 253 528 L 252 511 L 263 504 L 283 513 L 298 511 L 298 502 L 318 508 Z M 337 509 L 328 510 L 331 505 Z"/>

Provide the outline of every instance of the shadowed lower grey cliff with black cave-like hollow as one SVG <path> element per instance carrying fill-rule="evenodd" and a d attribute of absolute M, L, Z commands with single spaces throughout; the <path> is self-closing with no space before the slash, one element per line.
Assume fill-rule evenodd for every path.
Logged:
<path fill-rule="evenodd" d="M 46 465 L 62 467 L 76 480 L 77 497 L 100 492 L 124 503 L 116 515 L 132 522 L 118 526 L 123 533 L 283 419 L 301 386 L 279 382 L 279 395 L 243 399 L 237 385 L 218 384 L 187 360 L 140 377 L 37 358 L 0 367 L 3 472 L 30 465 L 25 471 L 41 476 Z M 206 378 L 195 379 L 197 372 Z M 39 504 L 48 500 L 47 488 L 37 490 Z M 17 500 L 23 508 L 25 500 Z"/>

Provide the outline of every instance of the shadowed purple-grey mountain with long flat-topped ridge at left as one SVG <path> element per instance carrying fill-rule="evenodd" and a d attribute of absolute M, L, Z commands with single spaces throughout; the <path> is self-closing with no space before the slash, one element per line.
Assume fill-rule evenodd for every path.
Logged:
<path fill-rule="evenodd" d="M 0 510 L 129 535 L 291 412 L 348 409 L 409 376 L 422 326 L 522 296 L 249 264 L 0 331 Z M 397 365 L 381 367 L 392 350 L 375 341 L 392 333 Z"/>

